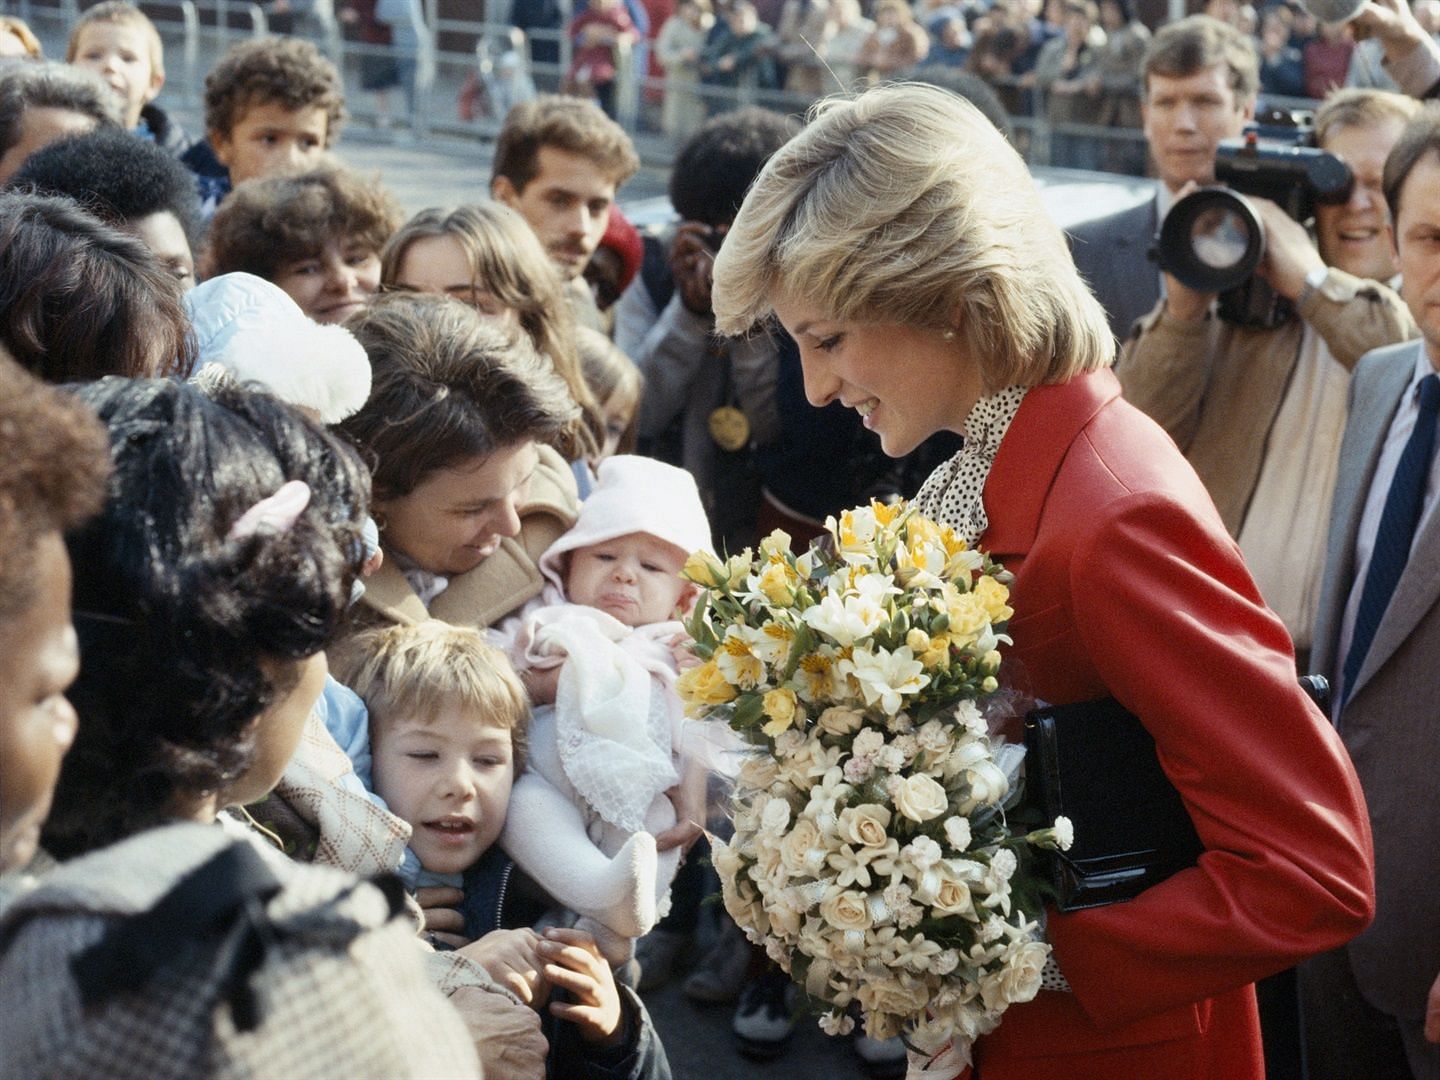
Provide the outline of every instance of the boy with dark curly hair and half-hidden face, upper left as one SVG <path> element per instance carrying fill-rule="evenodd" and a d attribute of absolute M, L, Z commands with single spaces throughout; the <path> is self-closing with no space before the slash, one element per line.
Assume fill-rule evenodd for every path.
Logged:
<path fill-rule="evenodd" d="M 340 72 L 310 42 L 259 37 L 230 49 L 204 79 L 204 134 L 181 160 L 209 216 L 235 184 L 320 163 L 346 105 Z"/>

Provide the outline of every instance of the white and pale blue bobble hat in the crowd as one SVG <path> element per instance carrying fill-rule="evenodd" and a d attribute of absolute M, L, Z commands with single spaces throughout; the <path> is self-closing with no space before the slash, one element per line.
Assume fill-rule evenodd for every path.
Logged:
<path fill-rule="evenodd" d="M 196 373 L 217 364 L 282 402 L 338 423 L 370 396 L 370 357 L 344 327 L 312 323 L 289 295 L 253 274 L 222 274 L 184 298 Z"/>

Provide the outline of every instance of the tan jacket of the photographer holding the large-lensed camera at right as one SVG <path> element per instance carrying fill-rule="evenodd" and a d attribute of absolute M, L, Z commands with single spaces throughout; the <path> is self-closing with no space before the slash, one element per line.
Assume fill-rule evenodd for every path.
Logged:
<path fill-rule="evenodd" d="M 1165 301 L 1140 318 L 1116 374 L 1132 405 L 1169 432 L 1238 536 L 1260 480 L 1270 428 L 1300 356 L 1305 324 L 1346 369 L 1371 348 L 1416 337 L 1404 301 L 1375 281 L 1331 269 L 1276 330 L 1169 318 Z"/>

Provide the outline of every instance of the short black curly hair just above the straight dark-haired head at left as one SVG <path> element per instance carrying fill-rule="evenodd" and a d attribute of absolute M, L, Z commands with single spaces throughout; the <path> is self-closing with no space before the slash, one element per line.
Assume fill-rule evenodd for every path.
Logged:
<path fill-rule="evenodd" d="M 200 197 L 194 174 L 164 150 L 128 131 L 99 130 L 36 150 L 9 187 L 63 194 L 109 225 L 121 226 L 173 213 L 194 248 Z"/>

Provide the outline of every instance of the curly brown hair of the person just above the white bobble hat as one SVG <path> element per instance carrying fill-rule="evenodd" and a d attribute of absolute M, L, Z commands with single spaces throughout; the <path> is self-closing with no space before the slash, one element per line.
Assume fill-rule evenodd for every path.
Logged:
<path fill-rule="evenodd" d="M 210 222 L 206 276 L 245 272 L 274 281 L 287 264 L 315 258 L 330 239 L 359 240 L 379 255 L 403 219 L 379 177 L 334 161 L 246 180 Z"/>

